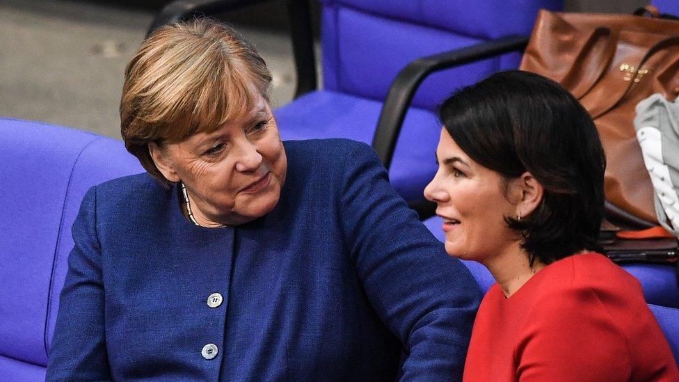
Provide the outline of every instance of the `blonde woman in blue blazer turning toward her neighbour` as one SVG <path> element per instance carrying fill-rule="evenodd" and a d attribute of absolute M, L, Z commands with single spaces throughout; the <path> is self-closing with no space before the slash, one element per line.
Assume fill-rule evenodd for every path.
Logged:
<path fill-rule="evenodd" d="M 205 19 L 125 72 L 147 173 L 73 226 L 47 380 L 459 379 L 479 291 L 367 145 L 281 142 L 255 49 Z"/>

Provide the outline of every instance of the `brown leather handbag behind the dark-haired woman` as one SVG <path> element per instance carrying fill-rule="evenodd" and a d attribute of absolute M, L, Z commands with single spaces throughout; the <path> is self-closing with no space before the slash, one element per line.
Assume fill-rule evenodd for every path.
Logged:
<path fill-rule="evenodd" d="M 634 107 L 653 93 L 679 94 L 679 21 L 652 6 L 635 15 L 541 10 L 520 69 L 558 81 L 582 103 L 606 153 L 607 201 L 657 224 Z"/>

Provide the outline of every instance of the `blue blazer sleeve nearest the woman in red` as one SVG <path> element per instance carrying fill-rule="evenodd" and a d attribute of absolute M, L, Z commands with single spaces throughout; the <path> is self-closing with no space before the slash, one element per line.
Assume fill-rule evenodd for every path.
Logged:
<path fill-rule="evenodd" d="M 404 345 L 402 380 L 460 380 L 481 293 L 392 189 L 372 148 L 346 156 L 339 213 L 377 314 Z"/>

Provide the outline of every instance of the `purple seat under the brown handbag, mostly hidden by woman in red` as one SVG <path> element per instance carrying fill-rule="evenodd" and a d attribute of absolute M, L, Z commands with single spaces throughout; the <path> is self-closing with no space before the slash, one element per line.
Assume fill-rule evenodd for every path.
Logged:
<path fill-rule="evenodd" d="M 441 230 L 442 218 L 433 216 L 424 221 L 426 228 L 440 241 L 445 241 L 445 235 Z M 488 287 L 495 282 L 485 266 L 479 267 L 476 262 L 464 262 L 472 271 L 481 290 L 486 292 Z M 644 289 L 644 297 L 649 304 L 662 305 L 671 308 L 679 308 L 679 285 L 674 265 L 666 264 L 623 264 L 623 269 L 636 277 Z M 678 332 L 679 334 L 679 332 Z"/>

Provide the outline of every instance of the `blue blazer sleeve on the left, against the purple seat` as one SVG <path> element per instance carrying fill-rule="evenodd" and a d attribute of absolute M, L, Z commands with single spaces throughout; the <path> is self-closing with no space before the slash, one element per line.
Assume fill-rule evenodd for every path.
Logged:
<path fill-rule="evenodd" d="M 73 223 L 74 248 L 61 292 L 47 381 L 110 380 L 104 340 L 102 255 L 97 239 L 96 189 L 90 189 Z"/>

